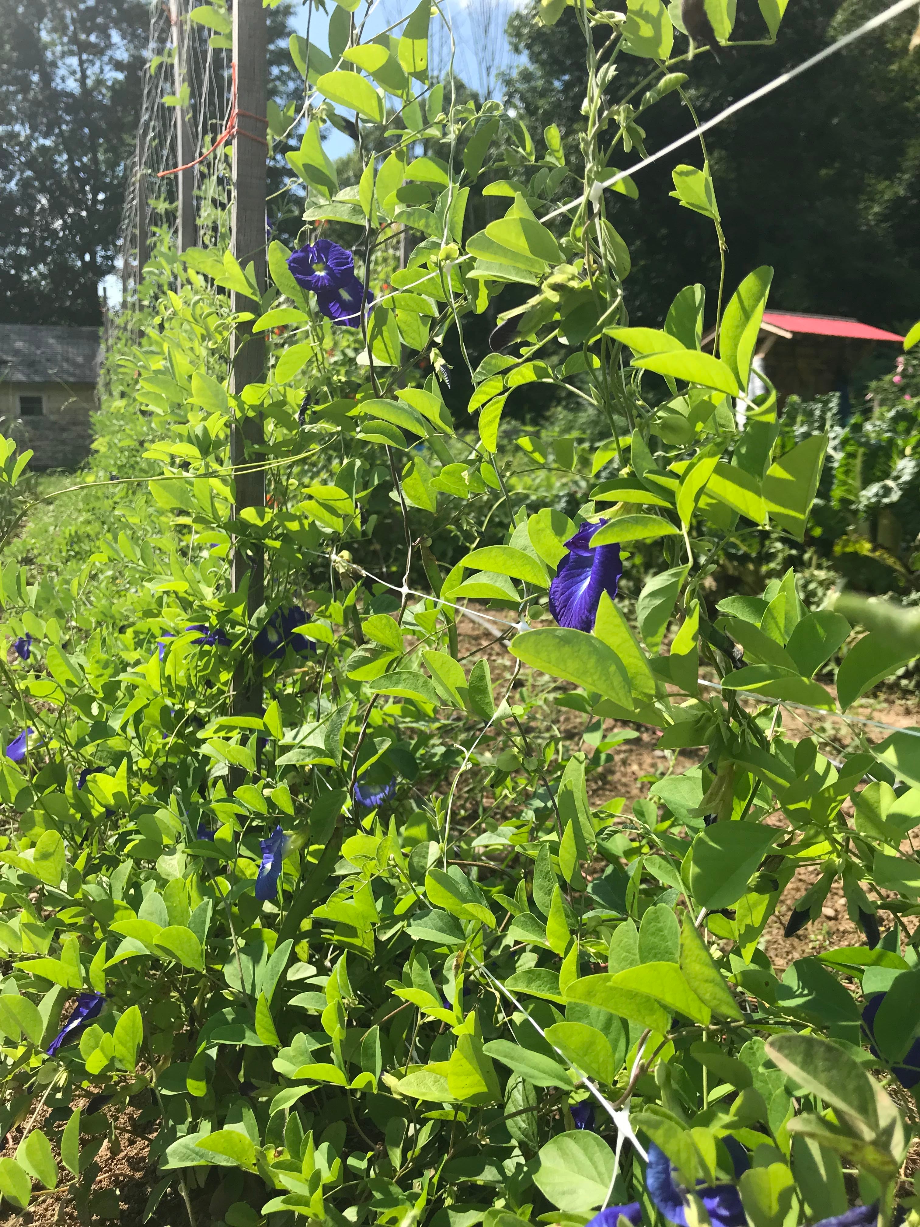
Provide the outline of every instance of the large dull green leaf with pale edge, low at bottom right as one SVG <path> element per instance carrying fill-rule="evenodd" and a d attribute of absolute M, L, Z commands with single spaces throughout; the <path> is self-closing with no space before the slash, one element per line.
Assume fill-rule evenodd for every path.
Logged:
<path fill-rule="evenodd" d="M 773 1036 L 767 1053 L 799 1086 L 862 1124 L 864 1136 L 875 1135 L 878 1108 L 872 1079 L 837 1044 L 816 1036 Z"/>

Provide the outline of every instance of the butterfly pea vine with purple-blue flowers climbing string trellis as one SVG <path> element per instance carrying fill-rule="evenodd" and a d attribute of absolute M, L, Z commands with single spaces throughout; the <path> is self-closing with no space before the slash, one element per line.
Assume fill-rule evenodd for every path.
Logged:
<path fill-rule="evenodd" d="M 579 178 L 573 134 L 429 76 L 437 5 L 372 40 L 352 11 L 335 58 L 292 39 L 298 247 L 270 244 L 260 294 L 220 228 L 182 256 L 161 233 L 101 415 L 147 472 L 72 582 L 0 577 L 0 1194 L 104 1209 L 97 1157 L 130 1106 L 145 1221 L 915 1217 L 920 739 L 830 757 L 783 704 L 848 710 L 916 637 L 807 609 L 794 572 L 713 601 L 729 542 L 805 540 L 827 440 L 783 450 L 775 391 L 747 391 L 770 270 L 633 321 L 642 198 L 597 187 L 645 109 L 691 101 L 680 15 L 536 7 L 585 34 Z M 707 13 L 730 43 L 734 7 Z M 649 71 L 615 103 L 621 56 Z M 329 103 L 355 114 L 356 185 L 323 151 Z M 673 195 L 724 250 L 700 161 Z M 270 361 L 231 394 L 240 328 Z M 553 480 L 588 488 L 574 518 L 515 467 L 534 384 L 608 429 L 546 440 Z M 267 498 L 236 514 L 250 413 Z M 2 474 L 25 514 L 11 449 Z M 267 560 L 251 616 L 234 541 Z M 462 645 L 467 601 L 507 623 L 507 667 Z M 247 671 L 264 710 L 234 715 Z M 599 801 L 607 751 L 559 713 L 653 730 L 666 772 Z M 770 918 L 803 929 L 832 887 L 865 944 L 774 967 Z"/>

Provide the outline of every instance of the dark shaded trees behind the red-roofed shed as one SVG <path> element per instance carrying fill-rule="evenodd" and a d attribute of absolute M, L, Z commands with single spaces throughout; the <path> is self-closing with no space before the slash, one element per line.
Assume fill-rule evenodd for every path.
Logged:
<path fill-rule="evenodd" d="M 881 7 L 873 0 L 871 10 Z M 859 0 L 843 7 L 837 0 L 792 0 L 775 47 L 720 50 L 720 63 L 700 54 L 689 66 L 678 65 L 691 77 L 688 97 L 707 119 L 870 15 Z M 730 288 L 751 269 L 770 264 L 774 307 L 900 329 L 916 318 L 920 56 L 908 53 L 911 29 L 913 15 L 905 13 L 707 135 L 729 242 Z M 535 128 L 558 124 L 577 163 L 583 124 L 577 82 L 584 76 L 585 47 L 573 13 L 548 29 L 526 11 L 515 13 L 509 36 L 527 56 L 509 81 L 512 101 Z M 738 21 L 734 37 L 764 37 L 756 9 Z M 675 54 L 686 45 L 678 34 Z M 611 99 L 628 93 L 650 61 L 621 55 L 617 65 Z M 649 152 L 692 128 L 677 93 L 639 123 Z M 611 135 L 616 130 L 611 124 Z M 624 169 L 639 157 L 635 150 L 618 150 L 613 163 Z M 702 166 L 698 142 L 643 169 L 635 178 L 638 200 L 611 194 L 611 220 L 632 254 L 633 323 L 659 323 L 673 294 L 694 281 L 709 290 L 711 323 L 719 281 L 711 223 L 667 199 L 671 171 L 682 162 Z"/>

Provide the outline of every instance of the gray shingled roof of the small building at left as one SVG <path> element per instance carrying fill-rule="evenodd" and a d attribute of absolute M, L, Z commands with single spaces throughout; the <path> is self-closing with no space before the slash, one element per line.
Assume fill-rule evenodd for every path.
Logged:
<path fill-rule="evenodd" d="M 98 328 L 0 324 L 0 379 L 10 383 L 92 383 L 99 378 Z"/>

